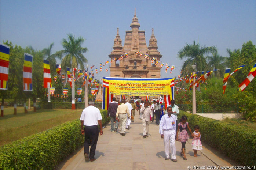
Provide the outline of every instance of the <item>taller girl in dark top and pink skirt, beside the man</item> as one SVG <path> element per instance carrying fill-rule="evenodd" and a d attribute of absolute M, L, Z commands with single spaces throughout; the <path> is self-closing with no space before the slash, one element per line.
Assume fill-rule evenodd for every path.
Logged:
<path fill-rule="evenodd" d="M 189 127 L 189 123 L 187 122 L 187 116 L 183 115 L 180 119 L 177 132 L 176 132 L 176 140 L 180 141 L 182 144 L 180 155 L 183 156 L 183 160 L 187 160 L 185 155 L 185 145 L 186 145 L 187 139 L 189 139 L 189 135 L 187 134 L 187 129 L 189 129 L 189 132 L 192 134 L 192 131 Z M 179 137 L 178 137 L 178 133 L 179 133 Z"/>

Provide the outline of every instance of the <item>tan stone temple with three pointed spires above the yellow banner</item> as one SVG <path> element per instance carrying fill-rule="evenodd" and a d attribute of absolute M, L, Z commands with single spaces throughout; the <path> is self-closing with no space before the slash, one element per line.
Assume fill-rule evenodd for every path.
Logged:
<path fill-rule="evenodd" d="M 111 77 L 138 77 L 138 78 L 160 78 L 161 67 L 151 63 L 152 58 L 160 61 L 162 55 L 157 50 L 157 40 L 154 36 L 154 29 L 149 40 L 149 47 L 146 45 L 145 31 L 140 31 L 140 24 L 136 16 L 136 9 L 132 23 L 130 25 L 131 31 L 126 31 L 124 46 L 119 36 L 119 29 L 114 39 L 113 50 L 109 57 L 111 58 L 110 76 Z M 140 54 L 136 52 L 140 51 Z M 128 56 L 122 60 L 118 60 L 121 55 L 128 53 Z M 150 58 L 144 58 L 145 54 L 149 54 Z"/>

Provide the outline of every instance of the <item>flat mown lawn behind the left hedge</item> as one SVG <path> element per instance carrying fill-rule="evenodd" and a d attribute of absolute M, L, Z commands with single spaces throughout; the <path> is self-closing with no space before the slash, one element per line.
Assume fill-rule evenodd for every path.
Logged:
<path fill-rule="evenodd" d="M 0 146 L 78 119 L 82 110 L 40 109 L 33 112 L 32 109 L 24 113 L 24 107 L 17 107 L 17 115 L 14 115 L 13 107 L 5 107 L 4 117 L 0 117 Z"/>

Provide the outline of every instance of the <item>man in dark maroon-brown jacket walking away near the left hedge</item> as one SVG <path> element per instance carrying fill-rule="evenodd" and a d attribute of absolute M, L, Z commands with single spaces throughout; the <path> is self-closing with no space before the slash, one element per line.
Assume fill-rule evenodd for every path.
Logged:
<path fill-rule="evenodd" d="M 111 132 L 117 132 L 118 129 L 118 120 L 116 120 L 116 111 L 117 111 L 118 103 L 116 102 L 116 98 L 112 98 L 112 102 L 109 103 L 109 109 L 107 109 L 107 117 L 110 116 L 111 121 Z"/>

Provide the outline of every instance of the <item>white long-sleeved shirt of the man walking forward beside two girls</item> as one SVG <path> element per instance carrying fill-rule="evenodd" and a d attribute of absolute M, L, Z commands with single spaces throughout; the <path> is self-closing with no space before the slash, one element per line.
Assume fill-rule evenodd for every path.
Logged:
<path fill-rule="evenodd" d="M 168 114 L 162 116 L 159 124 L 159 133 L 162 135 L 164 130 L 176 130 L 176 116 L 171 114 L 171 117 Z"/>

